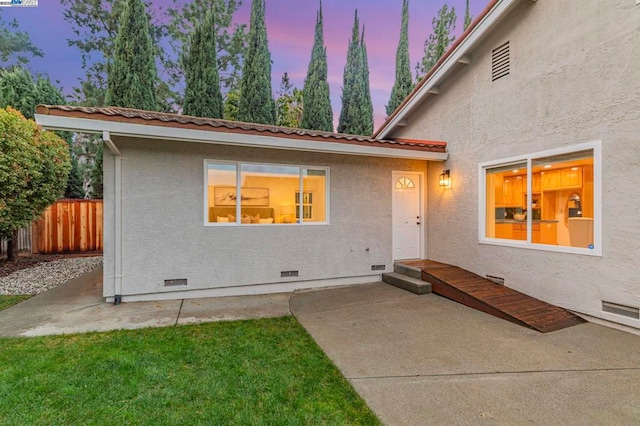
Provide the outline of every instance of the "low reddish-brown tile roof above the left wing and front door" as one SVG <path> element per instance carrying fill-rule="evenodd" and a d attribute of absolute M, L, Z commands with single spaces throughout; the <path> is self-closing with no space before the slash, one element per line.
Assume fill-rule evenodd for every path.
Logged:
<path fill-rule="evenodd" d="M 446 152 L 447 146 L 446 142 L 440 141 L 376 139 L 370 136 L 347 135 L 343 133 L 295 129 L 265 124 L 241 123 L 238 121 L 192 117 L 180 114 L 118 107 L 97 108 L 70 105 L 38 105 L 36 113 L 42 115 L 115 121 L 130 124 L 168 126 L 225 133 L 242 133 L 259 136 L 284 137 L 429 152 Z"/>

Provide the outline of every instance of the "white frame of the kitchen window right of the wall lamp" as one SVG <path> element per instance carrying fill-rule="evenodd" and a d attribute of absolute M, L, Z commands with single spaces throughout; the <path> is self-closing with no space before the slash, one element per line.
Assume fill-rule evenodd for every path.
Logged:
<path fill-rule="evenodd" d="M 547 245 L 531 242 L 532 232 L 532 214 L 531 212 L 531 172 L 532 161 L 537 158 L 551 157 L 554 155 L 570 154 L 572 152 L 593 150 L 593 249 L 581 247 L 566 247 Z M 489 238 L 486 235 L 487 226 L 487 174 L 486 170 L 507 166 L 512 163 L 527 163 L 527 239 L 508 240 L 501 238 Z M 591 256 L 602 256 L 602 141 L 595 140 L 591 142 L 570 145 L 562 148 L 551 149 L 547 151 L 539 151 L 531 154 L 503 158 L 495 161 L 487 161 L 478 165 L 478 242 L 480 244 L 490 244 L 506 247 L 518 247 L 532 250 L 544 250 L 560 253 L 583 254 Z"/>

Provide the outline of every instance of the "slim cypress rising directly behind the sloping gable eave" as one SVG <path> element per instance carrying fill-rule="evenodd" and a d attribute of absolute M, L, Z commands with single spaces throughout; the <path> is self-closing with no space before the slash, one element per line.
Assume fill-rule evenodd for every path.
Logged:
<path fill-rule="evenodd" d="M 409 61 L 409 0 L 403 0 L 400 41 L 398 41 L 398 49 L 396 50 L 396 81 L 391 90 L 389 104 L 386 106 L 387 115 L 391 115 L 398 108 L 412 88 L 413 78 Z"/>

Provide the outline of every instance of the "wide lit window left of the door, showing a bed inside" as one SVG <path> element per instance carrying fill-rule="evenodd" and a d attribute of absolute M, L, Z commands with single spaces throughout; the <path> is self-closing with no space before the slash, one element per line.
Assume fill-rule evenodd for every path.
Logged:
<path fill-rule="evenodd" d="M 205 222 L 326 224 L 328 174 L 322 167 L 206 160 Z"/>

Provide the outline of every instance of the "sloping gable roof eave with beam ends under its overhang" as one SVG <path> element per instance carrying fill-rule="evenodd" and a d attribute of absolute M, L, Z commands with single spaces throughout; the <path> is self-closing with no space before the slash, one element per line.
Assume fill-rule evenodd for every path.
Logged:
<path fill-rule="evenodd" d="M 438 86 L 462 62 L 467 55 L 496 25 L 498 25 L 511 10 L 522 0 L 496 0 L 489 4 L 458 43 L 455 43 L 448 52 L 443 55 L 439 63 L 425 76 L 416 88 L 407 96 L 400 106 L 374 133 L 378 139 L 388 138 L 390 133 L 406 119 L 407 115 L 415 110 L 430 93 L 437 91 Z M 434 95 L 438 96 L 438 95 Z"/>

